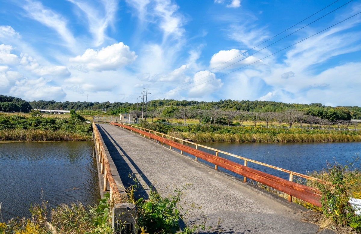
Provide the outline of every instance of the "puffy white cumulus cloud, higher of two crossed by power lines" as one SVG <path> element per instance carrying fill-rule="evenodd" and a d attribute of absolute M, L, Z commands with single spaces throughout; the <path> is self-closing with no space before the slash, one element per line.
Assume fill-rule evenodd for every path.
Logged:
<path fill-rule="evenodd" d="M 217 71 L 221 69 L 239 68 L 242 65 L 248 65 L 257 62 L 257 58 L 248 56 L 246 50 L 221 50 L 214 54 L 209 62 L 209 67 Z M 262 61 L 260 61 L 262 62 Z"/>

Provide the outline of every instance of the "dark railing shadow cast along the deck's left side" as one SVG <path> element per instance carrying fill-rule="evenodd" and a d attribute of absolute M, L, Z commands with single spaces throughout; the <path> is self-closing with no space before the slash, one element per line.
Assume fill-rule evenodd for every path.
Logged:
<path fill-rule="evenodd" d="M 117 168 L 123 186 L 125 188 L 129 188 L 130 186 L 135 185 L 136 191 L 134 191 L 134 198 L 138 199 L 142 197 L 144 199 L 148 199 L 147 190 L 149 189 L 143 188 L 143 186 L 136 179 L 135 174 L 138 174 L 138 176 L 143 179 L 145 184 L 147 184 L 147 186 L 153 191 L 156 191 L 156 188 L 153 186 L 151 181 L 149 181 L 147 176 L 143 174 L 142 170 L 140 170 L 140 168 L 135 164 L 135 162 L 129 157 L 129 155 L 123 150 L 123 148 L 116 142 L 116 140 L 114 140 L 114 138 L 103 127 L 99 125 L 97 126 L 101 136 L 103 136 L 104 144 L 109 151 L 110 157 L 112 157 L 114 165 Z M 113 142 L 111 140 L 113 140 Z M 114 144 L 117 145 L 122 154 L 129 160 L 131 165 L 135 168 L 136 173 L 131 170 L 130 166 L 125 161 L 121 153 L 119 153 L 118 149 L 115 147 Z"/>

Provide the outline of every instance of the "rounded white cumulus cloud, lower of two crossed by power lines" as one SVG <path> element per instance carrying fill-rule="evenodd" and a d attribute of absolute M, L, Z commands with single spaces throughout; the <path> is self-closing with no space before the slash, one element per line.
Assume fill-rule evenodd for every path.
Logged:
<path fill-rule="evenodd" d="M 221 79 L 217 79 L 216 75 L 210 71 L 197 72 L 193 77 L 192 88 L 188 92 L 190 98 L 204 98 L 222 87 Z"/>

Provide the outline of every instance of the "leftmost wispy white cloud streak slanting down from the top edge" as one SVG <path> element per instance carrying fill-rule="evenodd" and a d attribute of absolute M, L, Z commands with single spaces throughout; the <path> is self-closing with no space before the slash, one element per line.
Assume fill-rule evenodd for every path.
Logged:
<path fill-rule="evenodd" d="M 75 44 L 72 33 L 67 28 L 66 19 L 61 15 L 47 9 L 39 1 L 27 1 L 22 5 L 27 11 L 27 16 L 55 30 L 69 45 Z"/>

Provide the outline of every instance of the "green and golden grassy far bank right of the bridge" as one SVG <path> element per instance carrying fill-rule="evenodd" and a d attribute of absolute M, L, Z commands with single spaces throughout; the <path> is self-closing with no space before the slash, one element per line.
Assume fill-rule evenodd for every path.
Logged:
<path fill-rule="evenodd" d="M 344 142 L 361 141 L 361 131 L 228 127 L 218 125 L 170 126 L 142 123 L 142 127 L 195 142 Z"/>

